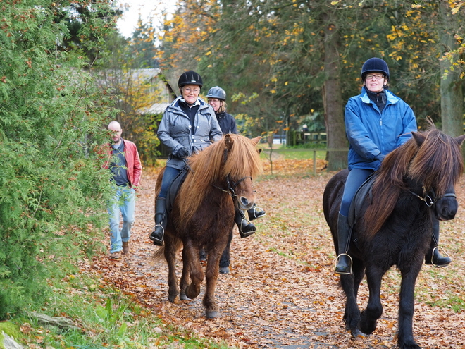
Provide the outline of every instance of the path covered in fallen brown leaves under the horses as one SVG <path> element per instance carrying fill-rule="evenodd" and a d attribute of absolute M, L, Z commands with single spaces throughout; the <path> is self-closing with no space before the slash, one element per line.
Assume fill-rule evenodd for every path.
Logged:
<path fill-rule="evenodd" d="M 218 319 L 205 317 L 204 285 L 194 300 L 168 302 L 168 267 L 151 262 L 156 247 L 148 234 L 154 225 L 156 171 L 143 173 L 132 252 L 116 261 L 101 257 L 92 268 L 154 310 L 166 324 L 232 347 L 395 348 L 399 277 L 394 269 L 383 278 L 384 309 L 378 329 L 356 339 L 345 331 L 345 299 L 333 274 L 335 253 L 321 206 L 325 184 L 333 173 L 318 171 L 311 176 L 312 166 L 311 160 L 277 160 L 273 172 L 278 176 L 265 176 L 255 184 L 257 203 L 267 214 L 254 221 L 257 233 L 249 238 L 241 239 L 235 228 L 230 274 L 221 274 L 216 286 Z M 454 221 L 441 224 L 441 244 L 452 256 L 452 264 L 441 269 L 424 266 L 417 281 L 414 335 L 422 348 L 465 347 L 465 312 L 447 307 L 454 299 L 457 304 L 465 302 L 464 192 L 462 178 L 457 188 L 459 213 Z M 180 267 L 179 256 L 178 276 Z M 359 294 L 359 306 L 365 307 L 365 282 Z M 428 305 L 432 301 L 445 307 Z"/>

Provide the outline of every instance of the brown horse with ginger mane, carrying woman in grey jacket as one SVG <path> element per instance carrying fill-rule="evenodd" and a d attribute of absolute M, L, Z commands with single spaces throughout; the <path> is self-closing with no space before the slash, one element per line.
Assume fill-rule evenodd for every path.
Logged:
<path fill-rule="evenodd" d="M 255 202 L 252 180 L 263 171 L 259 151 L 261 137 L 225 135 L 187 159 L 189 173 L 176 195 L 165 232 L 165 245 L 154 258 L 168 263 L 168 300 L 196 298 L 204 279 L 199 250 L 205 247 L 206 290 L 203 304 L 207 318 L 218 317 L 215 287 L 218 262 L 233 230 L 235 207 L 250 209 Z M 163 171 L 163 170 L 162 170 Z M 160 191 L 162 172 L 156 181 Z M 178 287 L 176 252 L 182 249 L 182 275 Z"/>

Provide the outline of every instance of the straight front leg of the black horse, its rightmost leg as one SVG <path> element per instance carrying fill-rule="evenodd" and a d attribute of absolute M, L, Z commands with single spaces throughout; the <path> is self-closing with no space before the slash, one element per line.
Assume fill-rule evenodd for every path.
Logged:
<path fill-rule="evenodd" d="M 397 343 L 400 349 L 419 349 L 414 340 L 413 317 L 414 317 L 414 293 L 416 278 L 419 275 L 423 259 L 411 264 L 407 268 L 400 269 L 402 281 L 399 295 L 399 331 Z"/>

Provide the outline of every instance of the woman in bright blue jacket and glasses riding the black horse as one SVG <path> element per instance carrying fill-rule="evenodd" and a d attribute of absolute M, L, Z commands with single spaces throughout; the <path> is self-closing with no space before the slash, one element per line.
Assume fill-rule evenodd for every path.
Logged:
<path fill-rule="evenodd" d="M 389 68 L 383 59 L 368 59 L 361 68 L 361 80 L 364 82 L 361 94 L 350 98 L 345 106 L 349 176 L 337 221 L 337 274 L 352 274 L 352 259 L 347 255 L 350 238 L 347 216 L 356 190 L 379 169 L 386 154 L 407 142 L 411 133 L 417 130 L 410 106 L 387 89 L 389 78 Z M 435 248 L 439 240 L 439 222 L 433 222 L 433 227 L 426 264 L 445 267 L 451 259 L 442 257 Z"/>

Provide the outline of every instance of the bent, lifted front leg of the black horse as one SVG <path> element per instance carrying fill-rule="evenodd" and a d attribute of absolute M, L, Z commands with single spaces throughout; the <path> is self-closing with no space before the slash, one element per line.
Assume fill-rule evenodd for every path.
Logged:
<path fill-rule="evenodd" d="M 380 300 L 381 279 L 385 270 L 378 267 L 366 268 L 366 281 L 370 295 L 366 309 L 361 312 L 360 330 L 363 333 L 370 334 L 376 330 L 376 322 L 383 314 L 383 305 Z"/>

